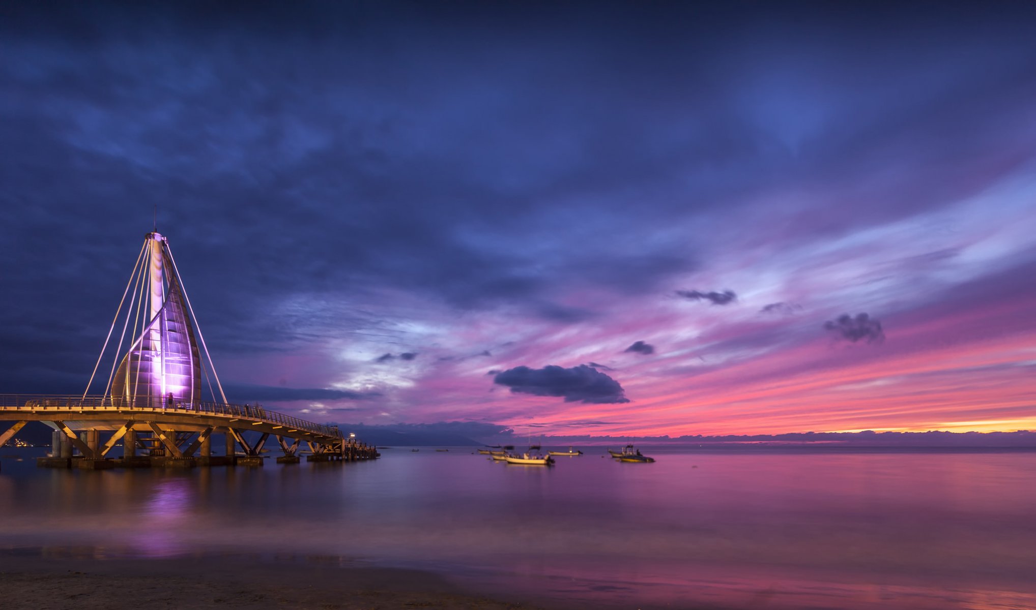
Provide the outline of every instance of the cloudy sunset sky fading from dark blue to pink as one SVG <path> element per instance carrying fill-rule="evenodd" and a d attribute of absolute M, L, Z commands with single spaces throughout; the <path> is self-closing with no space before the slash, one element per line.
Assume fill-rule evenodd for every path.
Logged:
<path fill-rule="evenodd" d="M 85 389 L 156 209 L 233 402 L 1036 429 L 1034 28 L 1023 2 L 4 3 L 0 393 Z"/>

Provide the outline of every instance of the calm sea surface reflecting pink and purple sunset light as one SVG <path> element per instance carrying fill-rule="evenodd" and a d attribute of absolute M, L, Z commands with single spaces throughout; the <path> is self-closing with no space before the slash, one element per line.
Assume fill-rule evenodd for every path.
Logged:
<path fill-rule="evenodd" d="M 5 448 L 0 550 L 332 557 L 573 608 L 1036 608 L 1036 452 L 582 448 L 102 472 Z"/>

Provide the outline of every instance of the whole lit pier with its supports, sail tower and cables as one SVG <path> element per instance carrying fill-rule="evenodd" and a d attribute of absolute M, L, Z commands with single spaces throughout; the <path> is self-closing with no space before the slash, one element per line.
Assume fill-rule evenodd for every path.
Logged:
<path fill-rule="evenodd" d="M 90 395 L 106 353 L 108 382 Z M 203 386 L 210 401 L 202 400 Z M 0 432 L 0 446 L 29 422 L 53 429 L 51 455 L 37 460 L 53 468 L 261 466 L 270 437 L 283 454 L 279 464 L 297 464 L 303 455 L 309 462 L 378 457 L 337 426 L 227 400 L 168 239 L 157 231 L 144 238 L 86 391 L 0 395 L 0 422 L 13 423 Z M 213 436 L 223 437 L 223 455 L 213 455 Z M 121 458 L 110 458 L 120 442 Z"/>

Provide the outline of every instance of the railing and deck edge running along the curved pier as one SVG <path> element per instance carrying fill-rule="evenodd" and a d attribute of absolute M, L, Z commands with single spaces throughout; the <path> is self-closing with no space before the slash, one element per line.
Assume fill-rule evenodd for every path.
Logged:
<path fill-rule="evenodd" d="M 227 417 L 238 417 L 242 419 L 254 419 L 267 424 L 275 424 L 285 428 L 329 436 L 332 438 L 343 438 L 342 432 L 337 426 L 325 426 L 314 424 L 285 415 L 277 411 L 270 411 L 260 405 L 236 405 L 229 403 L 213 402 L 179 402 L 164 401 L 162 399 L 138 399 L 126 400 L 123 398 L 113 398 L 110 396 L 87 396 L 83 398 L 77 396 L 51 396 L 32 394 L 6 394 L 0 395 L 0 409 L 4 411 L 113 411 L 113 412 L 168 412 L 176 414 L 207 414 Z"/>

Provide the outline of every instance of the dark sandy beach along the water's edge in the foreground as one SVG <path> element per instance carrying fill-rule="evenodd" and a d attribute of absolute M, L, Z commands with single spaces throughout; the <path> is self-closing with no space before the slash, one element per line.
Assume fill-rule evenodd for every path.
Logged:
<path fill-rule="evenodd" d="M 254 557 L 96 559 L 0 555 L 8 610 L 297 608 L 395 610 L 535 608 L 460 590 L 415 570 L 263 561 Z"/>

